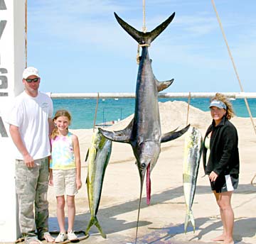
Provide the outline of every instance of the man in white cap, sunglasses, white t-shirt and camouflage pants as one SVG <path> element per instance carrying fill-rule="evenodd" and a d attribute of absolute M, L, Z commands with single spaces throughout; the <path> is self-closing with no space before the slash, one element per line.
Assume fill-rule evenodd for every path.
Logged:
<path fill-rule="evenodd" d="M 25 90 L 16 96 L 9 119 L 11 138 L 17 148 L 15 174 L 19 224 L 26 244 L 38 244 L 43 239 L 53 242 L 48 233 L 47 201 L 48 135 L 53 129 L 50 118 L 53 102 L 38 91 L 41 77 L 36 68 L 27 67 L 22 82 Z"/>

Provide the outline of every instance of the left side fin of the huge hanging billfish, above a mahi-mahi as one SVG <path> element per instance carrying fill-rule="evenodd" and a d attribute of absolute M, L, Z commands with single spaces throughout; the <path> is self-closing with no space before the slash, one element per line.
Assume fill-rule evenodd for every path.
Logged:
<path fill-rule="evenodd" d="M 105 131 L 102 128 L 99 128 L 99 131 L 109 140 L 117 141 L 119 143 L 129 143 L 132 135 L 133 121 L 134 120 L 132 119 L 127 128 L 124 128 L 121 131 Z"/>

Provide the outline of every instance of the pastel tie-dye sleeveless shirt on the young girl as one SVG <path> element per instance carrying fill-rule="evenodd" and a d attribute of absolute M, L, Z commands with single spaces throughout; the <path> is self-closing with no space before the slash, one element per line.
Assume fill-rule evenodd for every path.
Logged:
<path fill-rule="evenodd" d="M 75 168 L 75 155 L 72 141 L 72 133 L 67 135 L 57 135 L 55 139 L 50 139 L 52 146 L 50 169 L 70 170 Z"/>

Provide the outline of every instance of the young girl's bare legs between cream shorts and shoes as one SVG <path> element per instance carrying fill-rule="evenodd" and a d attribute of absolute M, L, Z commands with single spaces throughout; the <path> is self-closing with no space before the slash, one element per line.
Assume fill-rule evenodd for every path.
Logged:
<path fill-rule="evenodd" d="M 57 196 L 57 218 L 60 232 L 65 233 L 65 198 Z M 67 196 L 68 205 L 68 231 L 72 231 L 75 221 L 75 196 Z"/>

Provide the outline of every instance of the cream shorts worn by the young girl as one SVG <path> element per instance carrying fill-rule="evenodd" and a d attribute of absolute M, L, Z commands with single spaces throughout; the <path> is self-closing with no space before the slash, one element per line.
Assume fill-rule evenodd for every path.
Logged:
<path fill-rule="evenodd" d="M 76 169 L 53 170 L 53 189 L 55 196 L 74 196 L 78 193 L 76 186 Z"/>

